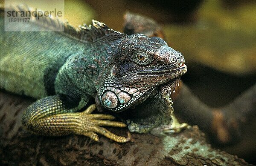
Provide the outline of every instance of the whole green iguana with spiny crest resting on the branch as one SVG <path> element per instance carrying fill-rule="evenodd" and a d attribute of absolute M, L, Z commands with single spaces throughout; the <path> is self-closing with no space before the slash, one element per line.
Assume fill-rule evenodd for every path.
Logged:
<path fill-rule="evenodd" d="M 29 11 L 27 6 L 19 9 Z M 0 10 L 0 89 L 38 99 L 23 114 L 29 131 L 74 133 L 96 141 L 99 133 L 127 142 L 130 137 L 100 126 L 127 125 L 139 133 L 160 125 L 171 132 L 180 127 L 169 96 L 186 65 L 182 54 L 161 38 L 123 34 L 95 20 L 92 26 L 74 28 L 49 17 L 41 19 L 43 24 L 32 19 L 26 24 L 35 31 L 4 31 Z M 64 31 L 40 31 L 57 26 Z M 95 109 L 124 123 L 111 121 L 113 115 L 91 114 Z"/>

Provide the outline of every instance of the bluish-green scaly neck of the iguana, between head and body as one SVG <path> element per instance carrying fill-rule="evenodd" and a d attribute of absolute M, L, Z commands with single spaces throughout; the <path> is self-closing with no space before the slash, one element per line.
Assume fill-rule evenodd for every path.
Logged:
<path fill-rule="evenodd" d="M 57 74 L 55 93 L 95 97 L 97 88 L 102 86 L 102 80 L 110 72 L 111 44 L 103 38 L 85 44 L 87 49 L 70 56 Z"/>

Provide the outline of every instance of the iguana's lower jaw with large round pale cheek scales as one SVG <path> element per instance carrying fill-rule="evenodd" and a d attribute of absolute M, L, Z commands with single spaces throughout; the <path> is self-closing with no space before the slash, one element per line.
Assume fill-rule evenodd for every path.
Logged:
<path fill-rule="evenodd" d="M 165 74 L 161 74 L 165 72 Z M 152 77 L 155 86 L 146 86 L 139 84 L 128 84 L 124 85 L 122 83 L 105 83 L 104 93 L 97 95 L 96 103 L 100 110 L 103 107 L 113 112 L 122 112 L 129 109 L 135 105 L 138 105 L 145 101 L 154 90 L 168 89 L 175 92 L 175 87 L 178 84 L 179 77 L 186 73 L 186 65 L 182 64 L 180 67 L 171 70 L 163 70 L 160 73 L 150 73 L 148 77 Z M 160 80 L 157 80 L 160 79 Z M 146 79 L 148 80 L 148 79 Z M 145 84 L 149 82 L 145 82 Z M 103 106 L 103 103 L 105 106 Z M 102 107 L 102 108 L 101 108 Z"/>

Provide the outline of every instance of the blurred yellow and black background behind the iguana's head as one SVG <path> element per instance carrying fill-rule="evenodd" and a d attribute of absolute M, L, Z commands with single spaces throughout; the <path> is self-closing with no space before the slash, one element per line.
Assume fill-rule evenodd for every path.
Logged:
<path fill-rule="evenodd" d="M 224 106 L 256 83 L 255 0 L 65 0 L 64 4 L 65 19 L 73 26 L 94 19 L 122 31 L 125 11 L 156 20 L 169 46 L 186 59 L 188 72 L 182 80 L 209 106 Z M 251 132 L 255 133 L 255 125 Z M 244 142 L 246 149 L 221 148 L 256 164 L 256 141 L 251 141 L 249 137 Z M 248 144 L 255 146 L 248 149 Z"/>

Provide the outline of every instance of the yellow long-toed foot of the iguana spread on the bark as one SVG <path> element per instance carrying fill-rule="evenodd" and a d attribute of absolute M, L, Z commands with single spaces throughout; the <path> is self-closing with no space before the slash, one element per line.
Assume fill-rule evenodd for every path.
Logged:
<path fill-rule="evenodd" d="M 96 133 L 104 135 L 116 142 L 124 143 L 131 140 L 130 135 L 128 137 L 122 137 L 113 134 L 107 129 L 100 126 L 113 126 L 113 127 L 126 127 L 125 123 L 111 121 L 115 119 L 112 115 L 108 114 L 91 114 L 96 109 L 95 104 L 90 105 L 84 112 L 70 113 L 70 116 L 77 117 L 80 121 L 80 125 L 75 129 L 75 134 L 85 135 L 95 141 L 99 141 L 99 137 Z"/>

